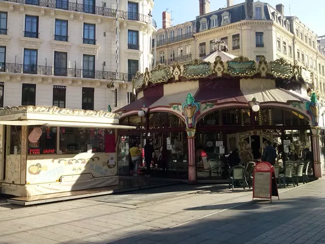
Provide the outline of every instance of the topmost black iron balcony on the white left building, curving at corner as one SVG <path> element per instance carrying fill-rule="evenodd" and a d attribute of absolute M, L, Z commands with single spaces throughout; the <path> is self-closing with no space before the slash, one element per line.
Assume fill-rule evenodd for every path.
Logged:
<path fill-rule="evenodd" d="M 109 16 L 114 18 L 118 17 L 118 18 L 128 19 L 128 20 L 136 20 L 147 24 L 151 23 L 155 28 L 157 27 L 156 22 L 149 15 L 125 12 L 116 9 L 108 9 L 104 7 L 97 7 L 94 5 L 70 3 L 68 2 L 68 0 L 67 1 L 64 0 L 4 0 L 4 1 L 20 3 L 20 4 L 36 5 L 36 6 L 54 8 L 54 9 L 70 10 L 70 11 L 88 13 L 88 14 L 103 15 L 103 16 Z"/>

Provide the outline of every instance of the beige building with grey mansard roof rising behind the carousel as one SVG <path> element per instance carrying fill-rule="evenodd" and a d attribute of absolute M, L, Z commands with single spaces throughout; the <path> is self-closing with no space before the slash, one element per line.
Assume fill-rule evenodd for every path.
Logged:
<path fill-rule="evenodd" d="M 200 2 L 196 20 L 165 25 L 153 37 L 154 63 L 188 62 L 212 52 L 214 40 L 225 41 L 229 53 L 243 55 L 256 62 L 263 55 L 268 61 L 284 58 L 289 63 L 306 65 L 314 72 L 319 98 L 325 98 L 324 47 L 317 35 L 296 16 L 286 16 L 282 4 L 272 7 L 260 1 L 246 1 L 209 11 L 209 2 Z M 164 15 L 168 18 L 170 15 Z M 164 21 L 163 21 L 164 22 Z M 165 21 L 169 23 L 169 21 Z M 191 34 L 186 35 L 191 31 Z M 183 34 L 185 33 L 185 35 Z"/>

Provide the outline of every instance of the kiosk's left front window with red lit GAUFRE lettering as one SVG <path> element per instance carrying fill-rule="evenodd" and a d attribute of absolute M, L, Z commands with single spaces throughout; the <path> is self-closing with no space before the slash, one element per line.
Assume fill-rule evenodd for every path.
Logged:
<path fill-rule="evenodd" d="M 28 155 L 56 154 L 56 127 L 28 126 Z"/>

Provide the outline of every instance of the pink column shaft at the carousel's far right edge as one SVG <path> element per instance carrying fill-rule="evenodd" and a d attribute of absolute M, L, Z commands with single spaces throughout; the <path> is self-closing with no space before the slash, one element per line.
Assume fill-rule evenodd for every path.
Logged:
<path fill-rule="evenodd" d="M 313 140 L 313 156 L 314 156 L 314 171 L 315 177 L 320 178 L 325 176 L 324 163 L 320 161 L 320 145 L 319 145 L 319 132 L 320 127 L 311 127 L 312 140 Z"/>

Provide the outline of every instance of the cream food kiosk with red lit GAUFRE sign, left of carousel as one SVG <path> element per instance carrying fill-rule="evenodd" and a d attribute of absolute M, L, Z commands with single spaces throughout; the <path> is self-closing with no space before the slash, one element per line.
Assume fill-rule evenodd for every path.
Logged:
<path fill-rule="evenodd" d="M 118 185 L 118 115 L 19 106 L 0 109 L 2 193 L 35 196 Z"/>

